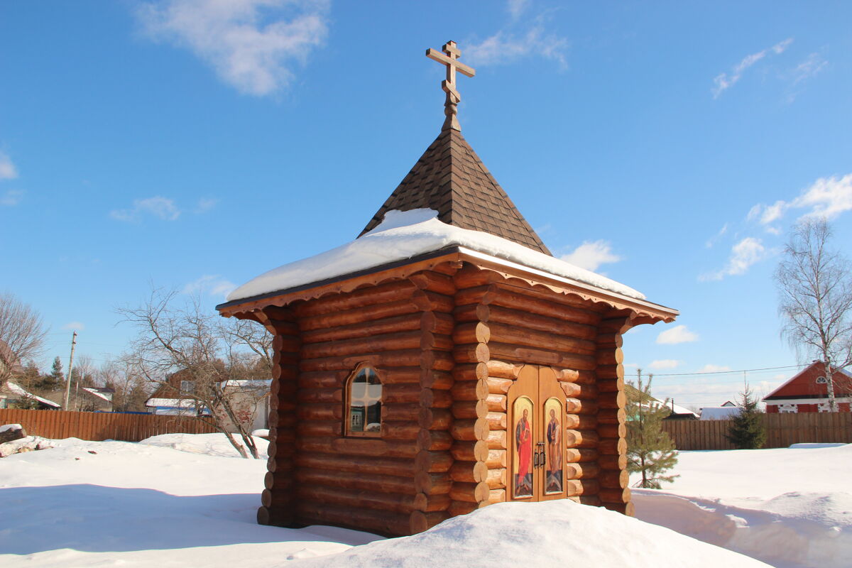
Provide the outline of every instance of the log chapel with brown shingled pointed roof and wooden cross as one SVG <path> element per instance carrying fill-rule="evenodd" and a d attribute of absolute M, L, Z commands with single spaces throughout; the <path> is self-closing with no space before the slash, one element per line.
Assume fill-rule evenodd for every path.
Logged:
<path fill-rule="evenodd" d="M 442 227 L 546 262 L 451 244 L 229 296 L 223 316 L 274 336 L 257 520 L 403 536 L 505 501 L 630 514 L 622 334 L 677 312 L 542 268 L 577 270 L 550 256 L 464 140 L 455 77 L 474 70 L 453 42 L 427 55 L 447 68 L 446 121 L 355 243 L 391 211 L 434 209 Z"/>

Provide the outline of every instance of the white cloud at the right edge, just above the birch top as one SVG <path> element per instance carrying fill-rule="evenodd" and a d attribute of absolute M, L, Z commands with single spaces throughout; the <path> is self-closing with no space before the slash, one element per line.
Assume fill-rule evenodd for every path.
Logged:
<path fill-rule="evenodd" d="M 746 220 L 755 221 L 767 231 L 779 234 L 780 229 L 772 223 L 780 221 L 790 209 L 807 209 L 800 218 L 825 217 L 829 220 L 852 210 L 852 174 L 820 177 L 792 201 L 780 199 L 771 205 L 757 204 L 749 210 Z"/>

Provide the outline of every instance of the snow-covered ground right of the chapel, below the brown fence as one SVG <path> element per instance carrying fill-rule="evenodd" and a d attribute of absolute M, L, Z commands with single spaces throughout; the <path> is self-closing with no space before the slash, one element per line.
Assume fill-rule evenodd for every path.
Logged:
<path fill-rule="evenodd" d="M 683 451 L 636 517 L 779 568 L 852 566 L 852 445 Z M 635 479 L 634 479 L 635 480 Z"/>

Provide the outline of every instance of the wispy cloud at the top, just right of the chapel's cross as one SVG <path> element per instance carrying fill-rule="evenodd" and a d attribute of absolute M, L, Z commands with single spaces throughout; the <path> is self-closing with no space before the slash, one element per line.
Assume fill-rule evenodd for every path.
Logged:
<path fill-rule="evenodd" d="M 568 40 L 547 31 L 546 14 L 522 20 L 528 11 L 527 0 L 509 0 L 509 25 L 486 37 L 481 42 L 468 41 L 464 58 L 471 65 L 490 66 L 514 63 L 527 57 L 543 57 L 556 61 L 561 69 L 567 68 Z"/>

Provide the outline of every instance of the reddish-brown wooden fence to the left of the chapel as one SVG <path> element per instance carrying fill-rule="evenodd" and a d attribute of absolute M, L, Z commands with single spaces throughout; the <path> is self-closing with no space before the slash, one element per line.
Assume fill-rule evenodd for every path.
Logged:
<path fill-rule="evenodd" d="M 0 425 L 20 424 L 43 438 L 119 439 L 138 442 L 165 433 L 212 433 L 216 430 L 190 416 L 0 409 Z"/>

